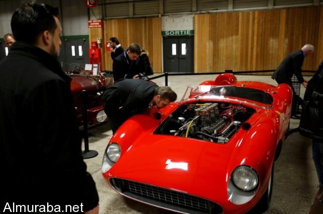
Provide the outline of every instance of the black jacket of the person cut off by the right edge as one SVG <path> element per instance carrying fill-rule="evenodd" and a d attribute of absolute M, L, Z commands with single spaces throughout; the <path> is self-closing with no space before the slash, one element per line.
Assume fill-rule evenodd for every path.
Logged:
<path fill-rule="evenodd" d="M 323 140 L 323 61 L 307 84 L 298 131 Z"/>

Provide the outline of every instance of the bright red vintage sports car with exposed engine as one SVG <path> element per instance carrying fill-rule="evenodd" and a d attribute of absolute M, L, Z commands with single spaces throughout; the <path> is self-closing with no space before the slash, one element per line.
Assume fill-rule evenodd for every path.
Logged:
<path fill-rule="evenodd" d="M 120 126 L 104 153 L 104 178 L 126 197 L 177 212 L 265 211 L 291 88 L 225 73 L 187 92 Z"/>

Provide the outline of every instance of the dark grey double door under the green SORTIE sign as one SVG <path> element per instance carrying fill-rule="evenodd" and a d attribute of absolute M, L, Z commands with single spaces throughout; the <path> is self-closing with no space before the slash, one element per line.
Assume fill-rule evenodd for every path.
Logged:
<path fill-rule="evenodd" d="M 193 36 L 163 37 L 164 72 L 194 72 Z"/>

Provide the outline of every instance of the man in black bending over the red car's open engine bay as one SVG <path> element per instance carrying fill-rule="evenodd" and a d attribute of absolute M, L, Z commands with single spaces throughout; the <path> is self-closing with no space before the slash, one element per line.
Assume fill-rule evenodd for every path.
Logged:
<path fill-rule="evenodd" d="M 156 105 L 166 107 L 177 99 L 169 86 L 158 86 L 143 79 L 122 79 L 108 87 L 102 96 L 113 133 L 135 113 Z"/>

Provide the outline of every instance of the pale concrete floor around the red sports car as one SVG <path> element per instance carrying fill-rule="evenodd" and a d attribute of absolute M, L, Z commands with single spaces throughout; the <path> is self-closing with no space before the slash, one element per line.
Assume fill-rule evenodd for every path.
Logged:
<path fill-rule="evenodd" d="M 216 75 L 186 75 L 169 76 L 169 86 L 179 98 L 185 92 L 187 85 L 198 85 L 202 81 L 214 79 Z M 237 75 L 238 80 L 255 80 L 277 83 L 270 76 Z M 310 77 L 305 77 L 309 79 Z M 154 79 L 158 85 L 165 85 L 165 78 Z M 304 88 L 300 88 L 301 97 Z M 290 128 L 298 126 L 299 120 L 291 119 Z M 163 209 L 145 205 L 131 199 L 126 199 L 106 183 L 101 174 L 101 161 L 104 149 L 112 136 L 109 124 L 105 123 L 89 130 L 89 147 L 99 152 L 99 155 L 85 159 L 88 171 L 96 181 L 100 196 L 100 213 L 169 213 Z M 308 213 L 314 195 L 317 176 L 311 159 L 310 139 L 297 132 L 289 135 L 284 141 L 280 157 L 275 162 L 274 184 L 271 205 L 266 213 Z"/>

